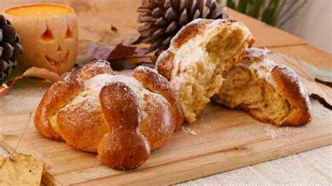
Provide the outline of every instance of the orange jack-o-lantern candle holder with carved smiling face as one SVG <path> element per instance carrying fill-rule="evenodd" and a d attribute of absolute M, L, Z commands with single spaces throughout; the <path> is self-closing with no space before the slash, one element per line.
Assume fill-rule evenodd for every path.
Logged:
<path fill-rule="evenodd" d="M 4 10 L 20 35 L 23 54 L 18 66 L 55 71 L 70 71 L 78 52 L 78 25 L 75 11 L 69 6 L 36 4 Z"/>

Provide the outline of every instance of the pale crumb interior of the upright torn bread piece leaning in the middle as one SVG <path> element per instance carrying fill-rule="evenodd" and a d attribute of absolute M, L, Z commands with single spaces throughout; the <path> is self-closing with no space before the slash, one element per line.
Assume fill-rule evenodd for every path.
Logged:
<path fill-rule="evenodd" d="M 248 47 L 248 40 L 242 29 L 222 27 L 188 41 L 179 49 L 171 85 L 188 122 L 194 122 L 210 98 L 219 92 L 223 73 L 237 62 Z"/>

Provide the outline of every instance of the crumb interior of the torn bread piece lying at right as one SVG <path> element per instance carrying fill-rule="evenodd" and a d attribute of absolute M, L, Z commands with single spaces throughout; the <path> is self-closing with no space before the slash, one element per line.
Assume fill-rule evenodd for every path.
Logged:
<path fill-rule="evenodd" d="M 258 78 L 256 71 L 241 65 L 228 73 L 216 100 L 230 108 L 247 110 L 254 117 L 275 124 L 281 124 L 291 110 L 290 103 L 275 87 L 264 78 Z"/>

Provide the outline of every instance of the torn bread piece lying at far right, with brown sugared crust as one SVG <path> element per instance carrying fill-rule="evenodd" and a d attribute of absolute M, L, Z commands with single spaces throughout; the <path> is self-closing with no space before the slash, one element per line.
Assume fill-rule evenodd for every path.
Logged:
<path fill-rule="evenodd" d="M 261 122 L 277 126 L 307 124 L 312 108 L 300 78 L 266 55 L 265 50 L 247 49 L 247 56 L 228 72 L 214 99 L 229 108 L 246 110 Z"/>

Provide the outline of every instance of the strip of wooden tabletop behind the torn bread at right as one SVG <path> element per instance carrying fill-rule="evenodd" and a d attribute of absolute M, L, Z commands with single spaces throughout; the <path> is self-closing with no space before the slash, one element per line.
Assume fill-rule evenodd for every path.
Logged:
<path fill-rule="evenodd" d="M 266 47 L 274 52 L 282 52 L 314 66 L 322 66 L 332 69 L 332 55 L 308 45 L 306 41 L 298 36 L 289 34 L 286 31 L 271 27 L 264 22 L 255 20 L 252 17 L 239 13 L 228 8 L 227 11 L 235 20 L 240 20 L 247 24 L 254 34 L 257 47 Z"/>

